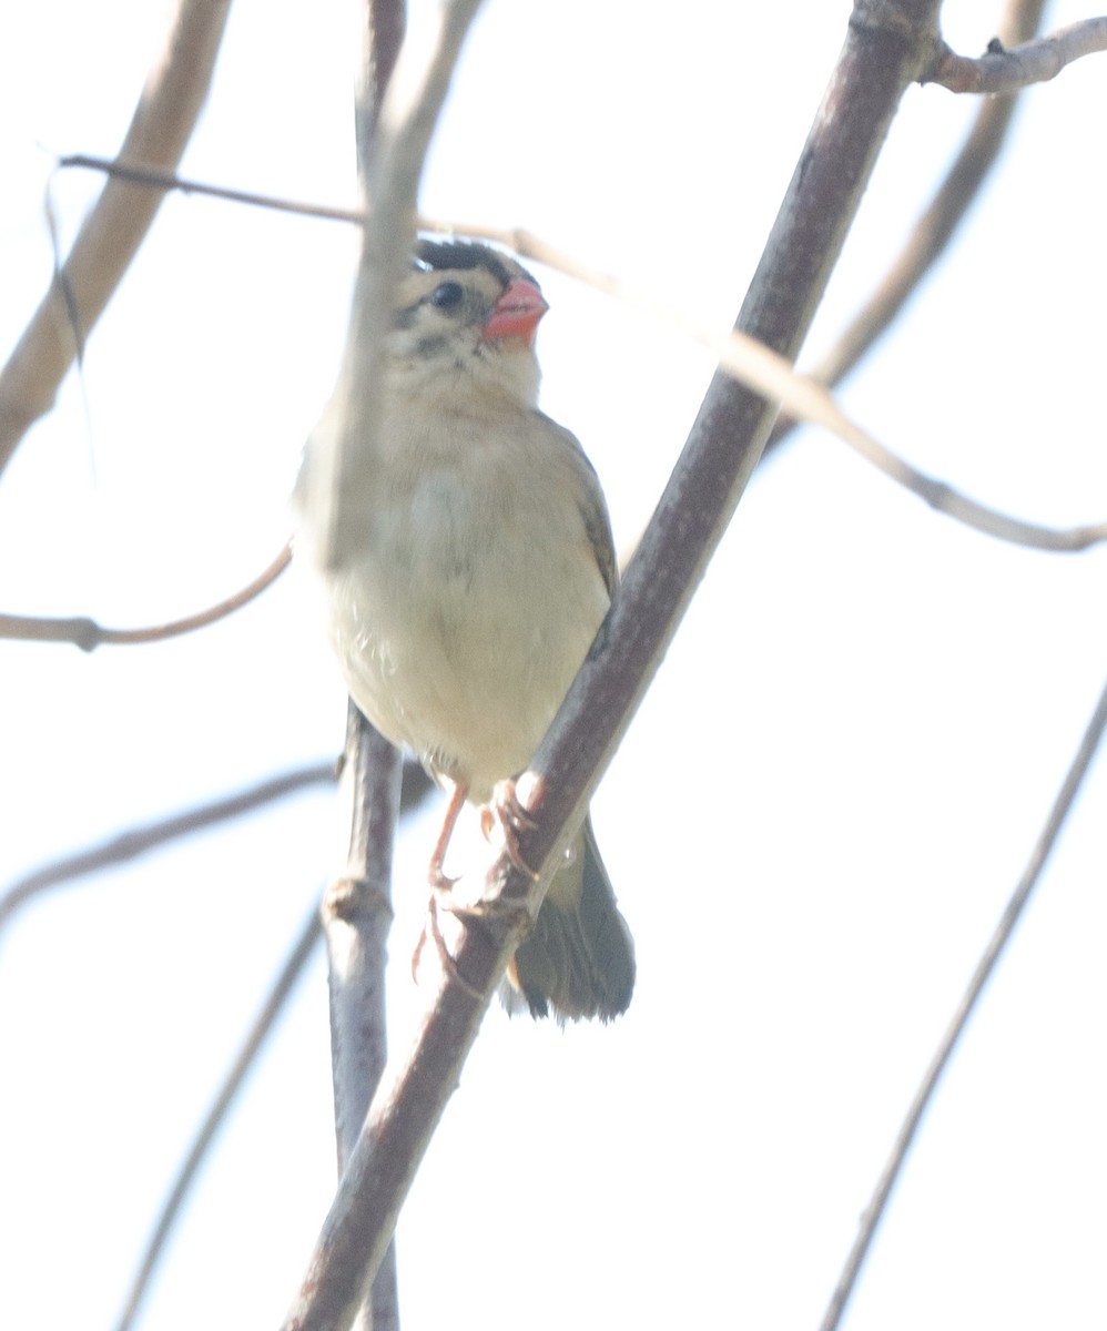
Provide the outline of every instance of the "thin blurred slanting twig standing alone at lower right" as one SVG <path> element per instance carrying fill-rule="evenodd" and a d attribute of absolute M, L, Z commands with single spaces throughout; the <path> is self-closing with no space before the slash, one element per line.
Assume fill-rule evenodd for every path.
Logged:
<path fill-rule="evenodd" d="M 958 1004 L 957 1010 L 946 1028 L 946 1033 L 942 1036 L 938 1049 L 930 1061 L 930 1066 L 926 1069 L 926 1074 L 922 1078 L 919 1089 L 915 1091 L 915 1097 L 911 1101 L 907 1115 L 903 1119 L 898 1137 L 895 1138 L 895 1145 L 891 1149 L 887 1163 L 877 1181 L 871 1201 L 865 1209 L 865 1214 L 861 1221 L 861 1231 L 858 1233 L 849 1258 L 842 1267 L 837 1288 L 834 1290 L 830 1304 L 822 1319 L 821 1331 L 836 1331 L 842 1319 L 842 1312 L 845 1311 L 846 1303 L 849 1302 L 854 1286 L 857 1284 L 857 1276 L 873 1243 L 873 1238 L 875 1236 L 877 1227 L 883 1217 L 889 1197 L 895 1186 L 895 1181 L 903 1169 L 903 1162 L 907 1158 L 907 1151 L 910 1150 L 911 1142 L 918 1131 L 922 1115 L 926 1113 L 930 1101 L 934 1098 L 938 1082 L 949 1066 L 949 1061 L 953 1057 L 962 1034 L 965 1033 L 965 1028 L 969 1025 L 969 1018 L 977 1010 L 985 986 L 991 978 L 997 962 L 1007 948 L 1007 944 L 1015 932 L 1015 925 L 1019 922 L 1019 918 L 1026 909 L 1026 904 L 1030 901 L 1031 893 L 1038 885 L 1042 869 L 1046 866 L 1046 860 L 1056 844 L 1058 836 L 1060 836 L 1060 831 L 1064 827 L 1064 821 L 1072 808 L 1072 801 L 1076 799 L 1080 785 L 1083 784 L 1088 768 L 1091 767 L 1091 760 L 1103 739 L 1104 729 L 1107 729 L 1107 685 L 1104 685 L 1103 692 L 1099 696 L 1095 712 L 1092 713 L 1088 727 L 1084 731 L 1084 736 L 1080 740 L 1080 747 L 1076 749 L 1076 755 L 1072 759 L 1068 772 L 1066 773 L 1064 781 L 1056 800 L 1054 801 L 1054 807 L 1050 809 L 1050 816 L 1046 819 L 1046 825 L 1042 828 L 1042 833 L 1030 855 L 1030 860 L 1022 872 L 1022 877 L 1019 878 L 1015 890 L 1011 893 L 1010 901 L 1003 908 L 1003 914 L 999 917 L 999 922 L 997 924 L 981 960 L 977 962 L 977 969 L 973 972 L 969 988 L 965 990 L 965 994 L 962 996 L 961 1002 Z"/>

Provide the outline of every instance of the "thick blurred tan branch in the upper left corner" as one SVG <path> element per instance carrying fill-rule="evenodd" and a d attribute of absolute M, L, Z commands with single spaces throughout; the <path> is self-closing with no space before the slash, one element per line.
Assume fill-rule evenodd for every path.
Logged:
<path fill-rule="evenodd" d="M 180 0 L 164 51 L 138 100 L 120 157 L 172 169 L 208 96 L 230 0 Z M 110 180 L 69 258 L 0 371 L 0 471 L 35 421 L 55 403 L 134 257 L 162 194 Z M 76 317 L 76 326 L 75 326 Z"/>

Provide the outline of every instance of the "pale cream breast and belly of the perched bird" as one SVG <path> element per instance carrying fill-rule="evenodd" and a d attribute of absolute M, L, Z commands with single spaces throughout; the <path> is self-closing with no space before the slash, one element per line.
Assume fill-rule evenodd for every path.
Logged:
<path fill-rule="evenodd" d="M 607 612 L 587 465 L 518 409 L 404 423 L 365 550 L 331 576 L 331 632 L 374 725 L 484 800 L 530 761 Z"/>

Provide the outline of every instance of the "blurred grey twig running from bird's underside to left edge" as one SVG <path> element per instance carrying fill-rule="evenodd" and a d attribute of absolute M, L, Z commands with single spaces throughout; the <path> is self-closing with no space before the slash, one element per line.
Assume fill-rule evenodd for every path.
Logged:
<path fill-rule="evenodd" d="M 43 865 L 33 873 L 19 878 L 7 892 L 0 894 L 0 932 L 11 924 L 12 917 L 21 906 L 43 892 L 64 886 L 75 878 L 90 873 L 113 869 L 148 851 L 158 849 L 169 841 L 192 836 L 194 832 L 217 827 L 220 823 L 229 823 L 232 819 L 242 817 L 245 813 L 251 813 L 274 800 L 282 800 L 287 795 L 297 795 L 309 787 L 334 784 L 335 779 L 334 761 L 313 763 L 310 767 L 297 768 L 281 776 L 266 777 L 245 791 L 198 804 L 184 813 L 173 813 L 166 819 L 148 823 L 145 827 L 130 828 L 120 836 L 90 847 L 88 851 L 79 851 L 76 855 L 68 855 L 52 864 Z"/>

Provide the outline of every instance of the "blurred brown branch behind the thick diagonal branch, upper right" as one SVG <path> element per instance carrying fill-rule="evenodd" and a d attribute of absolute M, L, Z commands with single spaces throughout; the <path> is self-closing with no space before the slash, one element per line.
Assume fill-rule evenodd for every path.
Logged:
<path fill-rule="evenodd" d="M 1032 37 L 1044 8 L 1046 0 L 1010 0 L 999 21 L 1003 40 Z M 828 387 L 840 383 L 899 315 L 913 291 L 945 253 L 998 161 L 1014 120 L 1017 100 L 1017 95 L 1011 93 L 981 102 L 965 145 L 915 222 L 906 245 L 830 350 L 806 371 L 810 378 Z M 765 453 L 780 445 L 797 423 L 796 417 L 781 411 Z"/>

